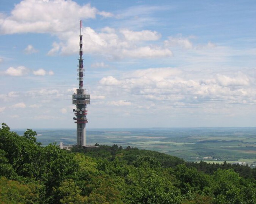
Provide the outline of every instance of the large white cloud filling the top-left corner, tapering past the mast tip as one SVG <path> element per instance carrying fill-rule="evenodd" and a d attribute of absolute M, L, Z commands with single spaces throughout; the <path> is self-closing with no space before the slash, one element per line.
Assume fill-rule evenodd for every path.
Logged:
<path fill-rule="evenodd" d="M 56 12 L 58 11 L 58 12 Z M 15 5 L 11 15 L 1 16 L 0 33 L 60 33 L 70 30 L 79 19 L 111 17 L 90 4 L 80 6 L 65 0 L 23 0 Z"/>

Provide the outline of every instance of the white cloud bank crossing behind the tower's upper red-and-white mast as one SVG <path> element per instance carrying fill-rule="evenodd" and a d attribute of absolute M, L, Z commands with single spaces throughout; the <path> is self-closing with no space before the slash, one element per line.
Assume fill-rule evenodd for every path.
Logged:
<path fill-rule="evenodd" d="M 124 32 L 124 31 L 123 31 Z M 149 40 L 157 40 L 160 34 L 153 31 L 133 32 L 130 40 L 124 39 L 123 34 L 115 29 L 106 27 L 101 32 L 96 32 L 90 27 L 82 28 L 83 34 L 83 51 L 84 53 L 92 53 L 105 56 L 108 59 L 120 58 L 162 58 L 171 57 L 172 52 L 167 47 L 142 45 L 141 42 Z M 126 33 L 127 38 L 129 38 Z M 148 36 L 146 36 L 148 35 Z M 48 55 L 70 55 L 77 53 L 77 35 L 72 32 L 62 33 L 58 35 L 61 42 L 53 43 L 52 49 Z"/>

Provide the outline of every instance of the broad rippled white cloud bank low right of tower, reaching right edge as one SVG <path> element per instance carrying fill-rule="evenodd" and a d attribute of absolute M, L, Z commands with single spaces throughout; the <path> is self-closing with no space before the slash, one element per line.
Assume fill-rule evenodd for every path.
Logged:
<path fill-rule="evenodd" d="M 149 68 L 127 72 L 120 77 L 103 77 L 105 95 L 133 99 L 133 106 L 149 107 L 148 102 L 170 102 L 175 107 L 200 107 L 225 104 L 256 104 L 255 79 L 246 73 L 227 72 L 201 75 L 177 68 Z M 99 94 L 100 95 L 100 94 Z M 117 106 L 124 100 L 108 102 Z M 125 101 L 126 102 L 126 101 Z M 143 104 L 139 104 L 143 102 Z M 127 103 L 129 104 L 129 103 Z M 163 106 L 166 107 L 166 106 Z"/>

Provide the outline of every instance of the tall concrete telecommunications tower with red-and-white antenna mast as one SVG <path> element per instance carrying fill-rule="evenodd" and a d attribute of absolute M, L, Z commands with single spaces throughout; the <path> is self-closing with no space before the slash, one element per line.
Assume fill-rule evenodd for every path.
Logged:
<path fill-rule="evenodd" d="M 83 80 L 84 80 L 84 66 L 82 59 L 82 21 L 80 21 L 80 52 L 79 52 L 79 65 L 78 65 L 78 80 L 79 89 L 76 89 L 76 94 L 73 94 L 73 104 L 76 109 L 73 109 L 75 116 L 73 119 L 76 123 L 76 145 L 86 146 L 86 129 L 85 124 L 88 123 L 87 104 L 90 104 L 90 95 L 86 94 Z"/>

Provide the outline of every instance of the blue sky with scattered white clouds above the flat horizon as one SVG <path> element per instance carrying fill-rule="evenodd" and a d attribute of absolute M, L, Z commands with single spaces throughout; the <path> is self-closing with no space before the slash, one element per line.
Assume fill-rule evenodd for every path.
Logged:
<path fill-rule="evenodd" d="M 1 0 L 0 122 L 76 128 L 256 126 L 255 0 Z"/>

